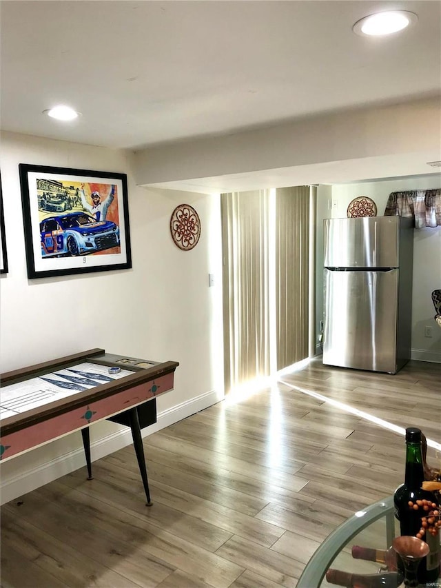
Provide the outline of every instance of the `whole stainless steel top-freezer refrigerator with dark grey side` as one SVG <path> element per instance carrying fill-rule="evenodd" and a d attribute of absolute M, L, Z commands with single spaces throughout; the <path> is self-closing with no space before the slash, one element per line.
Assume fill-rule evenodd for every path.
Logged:
<path fill-rule="evenodd" d="M 323 363 L 395 374 L 410 359 L 413 222 L 324 221 Z"/>

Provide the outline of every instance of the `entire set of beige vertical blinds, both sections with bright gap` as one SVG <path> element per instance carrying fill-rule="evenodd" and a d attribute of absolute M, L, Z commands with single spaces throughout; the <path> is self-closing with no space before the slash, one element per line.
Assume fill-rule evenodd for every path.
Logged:
<path fill-rule="evenodd" d="M 225 389 L 308 356 L 309 187 L 221 194 Z"/>

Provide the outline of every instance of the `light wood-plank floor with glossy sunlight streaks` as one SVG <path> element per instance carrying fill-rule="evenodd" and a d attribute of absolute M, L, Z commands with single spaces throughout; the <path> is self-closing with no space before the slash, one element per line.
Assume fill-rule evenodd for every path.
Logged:
<path fill-rule="evenodd" d="M 322 540 L 404 475 L 403 437 L 330 401 L 440 443 L 441 365 L 391 376 L 316 358 L 281 379 L 145 438 L 150 508 L 133 447 L 92 481 L 83 468 L 4 505 L 3 588 L 295 587 Z"/>

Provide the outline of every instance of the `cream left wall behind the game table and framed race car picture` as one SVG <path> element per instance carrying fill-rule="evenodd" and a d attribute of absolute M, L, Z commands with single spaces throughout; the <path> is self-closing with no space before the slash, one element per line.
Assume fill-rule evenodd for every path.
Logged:
<path fill-rule="evenodd" d="M 19 163 L 127 173 L 132 270 L 28 280 Z M 92 347 L 178 361 L 174 391 L 158 398 L 158 425 L 148 433 L 223 396 L 220 203 L 218 196 L 137 187 L 131 165 L 123 151 L 2 133 L 9 273 L 0 279 L 1 372 Z M 189 252 L 170 235 L 170 216 L 182 203 L 201 218 L 201 239 Z M 131 443 L 127 429 L 113 423 L 91 427 L 91 436 L 92 459 Z M 1 465 L 1 500 L 83 463 L 79 433 L 8 460 Z"/>

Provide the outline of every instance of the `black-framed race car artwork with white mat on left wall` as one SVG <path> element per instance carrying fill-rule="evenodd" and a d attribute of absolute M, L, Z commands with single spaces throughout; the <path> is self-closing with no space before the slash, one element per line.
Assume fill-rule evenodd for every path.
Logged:
<path fill-rule="evenodd" d="M 28 278 L 132 267 L 127 175 L 19 164 Z"/>

